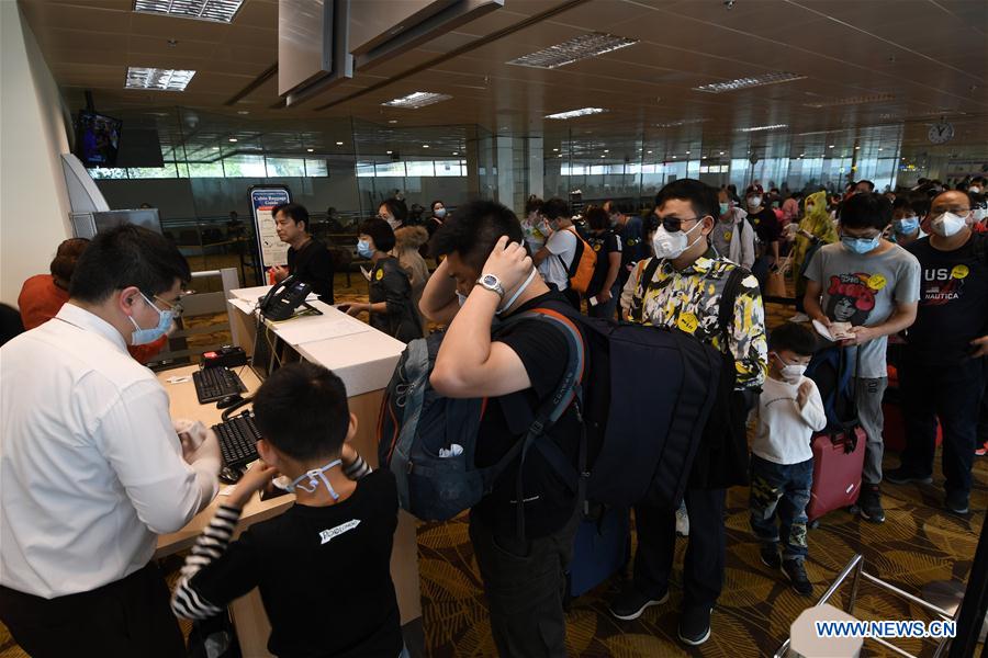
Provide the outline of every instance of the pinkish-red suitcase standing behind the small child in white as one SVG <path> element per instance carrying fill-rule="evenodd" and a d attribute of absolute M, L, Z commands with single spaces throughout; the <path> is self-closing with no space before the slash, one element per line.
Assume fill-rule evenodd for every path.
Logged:
<path fill-rule="evenodd" d="M 813 486 L 806 507 L 810 521 L 857 502 L 866 441 L 861 427 L 813 435 Z"/>

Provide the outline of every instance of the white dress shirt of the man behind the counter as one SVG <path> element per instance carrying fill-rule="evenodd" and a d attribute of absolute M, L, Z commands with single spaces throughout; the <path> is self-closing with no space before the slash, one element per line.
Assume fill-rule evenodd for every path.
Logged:
<path fill-rule="evenodd" d="M 50 599 L 120 580 L 216 494 L 168 394 L 72 304 L 0 349 L 0 585 Z"/>

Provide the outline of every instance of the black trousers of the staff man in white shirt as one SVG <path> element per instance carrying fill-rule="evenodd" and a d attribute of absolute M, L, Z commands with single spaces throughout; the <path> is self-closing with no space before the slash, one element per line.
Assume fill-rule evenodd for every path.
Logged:
<path fill-rule="evenodd" d="M 33 658 L 184 657 L 169 598 L 151 563 L 122 580 L 55 599 L 0 587 L 0 620 Z"/>

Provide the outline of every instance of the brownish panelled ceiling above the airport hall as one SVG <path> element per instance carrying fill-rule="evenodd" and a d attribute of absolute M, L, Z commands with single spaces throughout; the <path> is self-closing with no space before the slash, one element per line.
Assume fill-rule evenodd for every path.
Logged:
<path fill-rule="evenodd" d="M 463 131 L 395 131 L 479 125 L 544 135 L 547 151 L 591 154 L 607 144 L 615 157 L 635 158 L 638 149 L 656 159 L 693 149 L 796 157 L 826 152 L 830 144 L 834 152 L 851 151 L 856 144 L 988 160 L 985 0 L 737 0 L 730 10 L 721 0 L 505 0 L 504 8 L 290 109 L 279 106 L 273 78 L 225 104 L 276 63 L 274 0 L 245 0 L 228 25 L 136 13 L 133 0 L 20 2 L 74 110 L 83 104 L 82 90 L 91 90 L 97 109 L 109 114 L 165 113 L 150 120 L 172 145 L 192 133 L 202 147 L 239 134 L 248 138 L 240 146 L 252 131 L 268 140 L 281 135 L 284 148 L 314 144 L 332 152 L 344 140 L 353 152 L 356 117 L 381 126 L 361 128 L 379 139 L 363 145 L 369 151 L 398 138 L 411 150 L 419 135 L 446 138 L 442 148 L 458 150 Z M 507 33 L 492 38 L 498 31 Z M 586 32 L 640 42 L 553 70 L 506 64 Z M 450 55 L 453 49 L 459 54 Z M 198 73 L 186 92 L 134 91 L 123 89 L 127 66 Z M 770 71 L 806 78 L 720 94 L 693 90 Z M 419 110 L 381 105 L 413 91 L 453 98 Z M 884 100 L 834 104 L 874 97 Z M 161 110 L 178 105 L 198 116 L 193 129 L 175 110 Z M 543 118 L 583 106 L 609 111 Z M 931 147 L 927 132 L 941 116 L 954 123 L 956 137 Z M 684 120 L 705 121 L 659 127 Z M 774 124 L 787 127 L 738 132 Z"/>

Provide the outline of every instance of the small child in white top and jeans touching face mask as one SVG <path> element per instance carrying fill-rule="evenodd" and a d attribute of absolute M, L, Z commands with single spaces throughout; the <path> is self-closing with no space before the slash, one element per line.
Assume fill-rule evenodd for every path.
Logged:
<path fill-rule="evenodd" d="M 762 563 L 782 568 L 793 589 L 805 597 L 813 593 L 802 564 L 808 553 L 806 506 L 813 481 L 810 439 L 827 426 L 820 392 L 804 376 L 816 343 L 805 325 L 786 322 L 772 332 L 768 377 L 759 397 L 757 433 L 751 444 L 751 529 L 762 543 Z"/>

